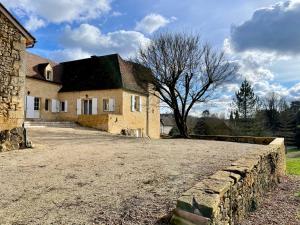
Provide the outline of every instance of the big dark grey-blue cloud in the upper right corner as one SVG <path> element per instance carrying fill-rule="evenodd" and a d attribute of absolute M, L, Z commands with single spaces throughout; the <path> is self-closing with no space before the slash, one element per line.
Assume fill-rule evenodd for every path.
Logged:
<path fill-rule="evenodd" d="M 231 42 L 237 51 L 264 50 L 300 54 L 300 1 L 277 3 L 254 12 L 252 18 L 233 26 Z"/>

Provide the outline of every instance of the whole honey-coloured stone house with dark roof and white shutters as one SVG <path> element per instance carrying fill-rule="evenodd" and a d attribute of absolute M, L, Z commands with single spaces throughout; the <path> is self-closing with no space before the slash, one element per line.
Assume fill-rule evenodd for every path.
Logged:
<path fill-rule="evenodd" d="M 118 54 L 55 63 L 27 53 L 27 120 L 74 121 L 114 134 L 159 138 L 151 72 Z"/>

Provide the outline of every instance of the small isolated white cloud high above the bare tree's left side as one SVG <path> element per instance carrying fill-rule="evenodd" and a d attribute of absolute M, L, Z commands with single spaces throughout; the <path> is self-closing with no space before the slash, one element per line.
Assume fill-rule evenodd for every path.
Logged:
<path fill-rule="evenodd" d="M 169 24 L 171 21 L 176 20 L 175 17 L 167 19 L 159 14 L 149 14 L 145 16 L 141 21 L 136 24 L 135 30 L 152 34 L 157 31 L 159 28 L 162 28 Z"/>

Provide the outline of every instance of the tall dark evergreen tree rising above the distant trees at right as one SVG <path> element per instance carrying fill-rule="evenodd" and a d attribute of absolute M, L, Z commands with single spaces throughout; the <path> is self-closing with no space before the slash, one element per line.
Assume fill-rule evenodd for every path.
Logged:
<path fill-rule="evenodd" d="M 240 90 L 235 93 L 234 104 L 236 109 L 243 120 L 253 117 L 258 97 L 254 94 L 251 84 L 245 79 L 240 87 Z"/>

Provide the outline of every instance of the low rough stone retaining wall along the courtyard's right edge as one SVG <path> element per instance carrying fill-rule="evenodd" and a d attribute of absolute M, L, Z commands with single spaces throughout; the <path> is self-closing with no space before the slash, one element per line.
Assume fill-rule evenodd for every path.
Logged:
<path fill-rule="evenodd" d="M 254 140 L 243 138 L 247 143 Z M 254 154 L 186 191 L 177 201 L 171 224 L 240 224 L 249 212 L 256 210 L 265 192 L 278 184 L 285 171 L 284 139 L 273 139 Z"/>

